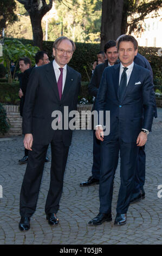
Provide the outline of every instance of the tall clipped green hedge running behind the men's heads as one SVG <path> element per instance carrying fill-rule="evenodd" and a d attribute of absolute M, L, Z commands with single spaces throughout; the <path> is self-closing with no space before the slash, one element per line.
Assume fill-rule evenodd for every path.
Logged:
<path fill-rule="evenodd" d="M 19 39 L 23 44 L 34 45 L 33 40 Z M 43 41 L 43 51 L 48 53 L 50 59 L 52 54 L 53 41 Z M 157 47 L 140 47 L 139 53 L 144 55 L 150 62 L 153 74 L 154 74 L 154 84 L 156 88 L 160 89 L 162 81 L 162 57 L 159 57 L 157 52 L 159 48 Z M 81 42 L 76 42 L 76 51 L 73 54 L 72 60 L 70 60 L 70 66 L 79 71 L 82 75 L 82 81 L 89 81 L 88 76 L 91 77 L 91 65 L 96 59 L 96 53 L 100 51 L 100 44 L 86 44 Z M 86 74 L 85 68 L 87 68 L 88 76 Z"/>

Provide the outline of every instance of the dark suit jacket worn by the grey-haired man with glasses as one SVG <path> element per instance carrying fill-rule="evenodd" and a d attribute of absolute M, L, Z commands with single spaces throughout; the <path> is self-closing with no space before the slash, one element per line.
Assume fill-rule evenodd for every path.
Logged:
<path fill-rule="evenodd" d="M 81 86 L 81 74 L 67 65 L 67 76 L 62 98 L 59 91 L 53 62 L 33 69 L 29 77 L 23 108 L 23 133 L 32 133 L 35 143 L 47 145 L 54 136 L 51 123 L 53 111 L 61 111 L 68 106 L 68 112 L 77 107 L 77 97 Z M 63 130 L 63 143 L 69 147 L 71 130 Z"/>

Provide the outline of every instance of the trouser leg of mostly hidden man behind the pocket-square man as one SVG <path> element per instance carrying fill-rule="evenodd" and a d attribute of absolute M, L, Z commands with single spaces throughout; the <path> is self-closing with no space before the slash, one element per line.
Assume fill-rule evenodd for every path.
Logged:
<path fill-rule="evenodd" d="M 134 177 L 134 190 L 133 193 L 137 193 L 143 189 L 145 184 L 145 164 L 146 164 L 146 154 L 145 145 L 139 147 L 137 164 L 135 167 L 135 177 Z"/>

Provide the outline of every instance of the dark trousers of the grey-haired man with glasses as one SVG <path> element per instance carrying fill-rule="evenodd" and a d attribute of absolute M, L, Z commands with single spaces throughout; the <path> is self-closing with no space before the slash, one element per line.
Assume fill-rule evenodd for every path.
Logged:
<path fill-rule="evenodd" d="M 62 141 L 62 131 L 56 130 L 51 141 L 50 187 L 46 200 L 46 214 L 59 210 L 63 188 L 63 175 L 66 168 L 69 147 Z M 29 151 L 27 169 L 24 174 L 20 194 L 20 215 L 31 217 L 36 210 L 38 193 L 41 185 L 44 161 L 48 145 L 33 143 L 33 151 Z"/>

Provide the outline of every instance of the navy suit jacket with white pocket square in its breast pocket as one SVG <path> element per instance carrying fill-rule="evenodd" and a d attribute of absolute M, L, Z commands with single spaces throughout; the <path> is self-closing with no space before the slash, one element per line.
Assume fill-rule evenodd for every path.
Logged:
<path fill-rule="evenodd" d="M 154 113 L 152 78 L 149 70 L 134 63 L 126 94 L 119 102 L 119 72 L 120 64 L 103 71 L 95 109 L 110 111 L 110 133 L 104 139 L 113 141 L 119 137 L 127 143 L 136 142 L 141 128 L 151 131 Z"/>

